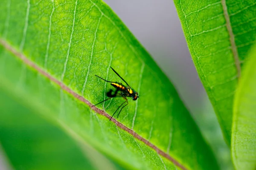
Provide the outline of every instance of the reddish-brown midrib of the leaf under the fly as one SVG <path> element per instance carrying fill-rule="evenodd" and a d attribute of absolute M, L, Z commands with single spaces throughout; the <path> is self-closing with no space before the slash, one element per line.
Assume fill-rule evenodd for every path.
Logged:
<path fill-rule="evenodd" d="M 110 119 L 111 116 L 106 113 L 103 110 L 100 110 L 99 108 L 94 107 L 93 104 L 91 104 L 88 100 L 86 100 L 84 97 L 80 96 L 79 94 L 77 94 L 75 91 L 73 91 L 72 89 L 70 89 L 69 87 L 67 87 L 63 82 L 59 81 L 58 79 L 56 79 L 55 77 L 52 77 L 52 75 L 50 75 L 49 73 L 47 73 L 46 71 L 44 71 L 42 68 L 40 68 L 36 63 L 32 62 L 31 60 L 29 60 L 27 57 L 25 57 L 25 55 L 23 55 L 22 53 L 18 52 L 15 48 L 13 48 L 8 42 L 6 42 L 5 40 L 0 38 L 0 45 L 2 45 L 7 51 L 11 52 L 13 55 L 15 55 L 15 57 L 18 57 L 19 59 L 21 59 L 26 65 L 29 65 L 30 67 L 34 68 L 36 71 L 38 71 L 38 73 L 40 73 L 41 75 L 47 77 L 50 81 L 55 82 L 57 85 L 59 85 L 61 87 L 62 90 L 66 91 L 67 93 L 69 93 L 70 95 L 72 95 L 73 97 L 75 97 L 76 99 L 80 100 L 81 102 L 84 102 L 84 104 L 88 105 L 93 111 L 95 111 L 96 113 L 101 114 L 102 116 L 105 116 L 106 118 Z M 134 136 L 135 138 L 139 139 L 140 141 L 142 141 L 143 143 L 145 143 L 146 145 L 148 145 L 148 147 L 151 147 L 152 149 L 154 149 L 158 154 L 160 154 L 161 156 L 165 157 L 166 159 L 168 159 L 169 161 L 172 161 L 173 164 L 175 164 L 176 166 L 180 167 L 180 169 L 182 170 L 188 170 L 186 167 L 184 167 L 182 164 L 180 164 L 177 160 L 175 160 L 173 157 L 171 157 L 169 154 L 165 153 L 163 150 L 160 150 L 157 146 L 155 146 L 154 144 L 152 144 L 151 142 L 149 142 L 148 140 L 144 139 L 142 136 L 140 136 L 139 134 L 137 134 L 134 130 L 126 127 L 125 125 L 123 125 L 121 122 L 118 122 L 116 119 L 112 118 L 111 121 L 113 123 L 116 124 L 116 126 L 118 126 L 119 128 L 125 130 L 127 133 L 130 133 L 132 136 Z"/>

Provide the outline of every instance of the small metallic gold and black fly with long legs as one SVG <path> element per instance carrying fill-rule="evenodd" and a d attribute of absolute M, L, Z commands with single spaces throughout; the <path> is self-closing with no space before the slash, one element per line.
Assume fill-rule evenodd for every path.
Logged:
<path fill-rule="evenodd" d="M 107 93 L 107 96 L 108 96 L 109 98 L 103 100 L 102 102 L 105 102 L 105 101 L 107 101 L 107 100 L 109 100 L 109 99 L 111 99 L 111 98 L 113 98 L 113 97 L 122 97 L 122 98 L 125 99 L 125 102 L 127 102 L 126 105 L 124 105 L 125 102 L 123 102 L 123 103 L 116 109 L 116 111 L 117 111 L 122 105 L 124 105 L 124 106 L 121 108 L 121 110 L 119 111 L 119 113 L 118 113 L 118 115 L 117 115 L 117 117 L 118 117 L 119 114 L 120 114 L 120 112 L 122 111 L 122 109 L 123 109 L 125 106 L 128 105 L 128 100 L 127 100 L 126 97 L 131 97 L 133 100 L 137 100 L 137 99 L 139 98 L 139 96 L 138 96 L 138 93 L 137 93 L 133 88 L 131 88 L 131 86 L 128 85 L 128 83 L 127 83 L 112 67 L 110 67 L 110 68 L 111 68 L 111 69 L 115 72 L 115 74 L 116 74 L 118 77 L 120 77 L 120 78 L 126 83 L 126 85 L 127 85 L 127 86 L 125 86 L 125 85 L 122 85 L 122 83 L 120 83 L 120 82 L 111 82 L 111 81 L 108 81 L 108 80 L 103 79 L 103 80 L 106 81 L 106 82 L 110 82 L 111 85 L 112 85 L 114 88 L 116 88 L 116 91 L 114 91 L 114 93 L 112 94 L 113 90 L 110 89 L 110 90 L 108 91 L 108 93 Z M 97 76 L 97 75 L 95 75 L 95 76 Z M 99 76 L 97 76 L 97 77 L 99 77 Z M 101 77 L 99 77 L 99 78 L 102 79 Z M 120 93 L 118 93 L 118 92 L 120 92 Z M 96 105 L 99 105 L 99 104 L 101 104 L 102 102 L 99 102 L 99 103 L 96 104 Z M 96 105 L 94 105 L 94 106 L 96 106 Z M 114 116 L 114 114 L 116 113 L 116 111 L 113 113 L 113 115 L 111 116 L 111 118 L 110 118 L 109 120 L 112 119 L 112 117 Z"/>

